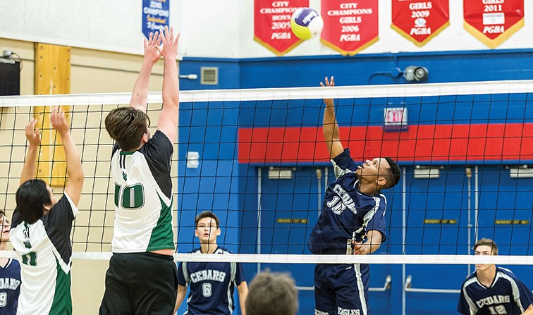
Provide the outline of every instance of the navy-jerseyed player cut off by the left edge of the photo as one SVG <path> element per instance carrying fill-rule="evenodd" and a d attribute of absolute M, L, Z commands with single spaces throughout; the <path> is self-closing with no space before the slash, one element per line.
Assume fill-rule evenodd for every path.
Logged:
<path fill-rule="evenodd" d="M 0 250 L 7 250 L 9 241 L 9 220 L 0 210 L 1 236 Z M 0 315 L 17 314 L 20 295 L 20 264 L 18 260 L 0 258 Z"/>

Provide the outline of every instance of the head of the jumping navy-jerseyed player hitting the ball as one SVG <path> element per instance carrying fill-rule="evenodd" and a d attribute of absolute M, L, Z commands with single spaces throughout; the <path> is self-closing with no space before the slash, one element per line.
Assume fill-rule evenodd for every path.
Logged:
<path fill-rule="evenodd" d="M 377 190 L 396 186 L 401 176 L 400 166 L 388 156 L 364 161 L 355 173 L 365 183 L 376 183 Z"/>

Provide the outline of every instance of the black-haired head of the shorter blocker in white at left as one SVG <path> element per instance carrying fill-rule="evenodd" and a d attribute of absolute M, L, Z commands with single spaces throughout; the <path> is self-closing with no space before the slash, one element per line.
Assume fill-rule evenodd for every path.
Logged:
<path fill-rule="evenodd" d="M 17 211 L 23 221 L 30 224 L 47 214 L 57 203 L 54 191 L 47 183 L 39 179 L 26 180 L 18 187 L 15 199 Z"/>

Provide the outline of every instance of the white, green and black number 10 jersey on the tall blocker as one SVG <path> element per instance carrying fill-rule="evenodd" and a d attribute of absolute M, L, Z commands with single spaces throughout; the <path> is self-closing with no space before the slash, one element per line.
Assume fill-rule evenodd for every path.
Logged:
<path fill-rule="evenodd" d="M 171 156 L 173 145 L 157 130 L 139 150 L 111 156 L 115 183 L 115 224 L 111 251 L 174 249 Z"/>

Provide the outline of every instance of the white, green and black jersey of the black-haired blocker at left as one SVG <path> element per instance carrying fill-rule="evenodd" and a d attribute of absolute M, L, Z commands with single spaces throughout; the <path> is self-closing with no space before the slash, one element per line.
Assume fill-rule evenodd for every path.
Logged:
<path fill-rule="evenodd" d="M 13 213 L 10 238 L 22 280 L 18 315 L 72 314 L 70 235 L 77 214 L 67 194 L 33 224 Z"/>

